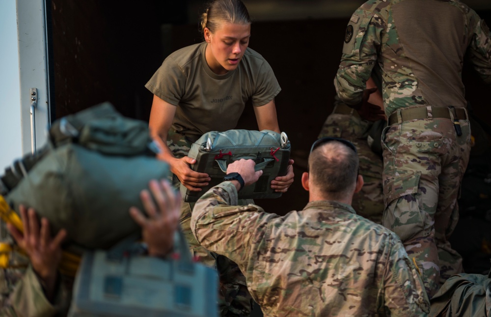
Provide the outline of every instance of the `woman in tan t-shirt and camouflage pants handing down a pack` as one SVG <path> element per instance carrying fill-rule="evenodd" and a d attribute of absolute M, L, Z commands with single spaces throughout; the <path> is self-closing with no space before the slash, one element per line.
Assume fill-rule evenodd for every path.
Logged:
<path fill-rule="evenodd" d="M 248 48 L 250 18 L 244 3 L 213 1 L 201 26 L 205 41 L 170 54 L 145 85 L 154 94 L 149 126 L 163 149 L 159 158 L 191 191 L 201 191 L 211 180 L 208 174 L 191 170 L 195 163 L 187 156 L 191 143 L 209 131 L 234 129 L 248 100 L 259 130 L 280 132 L 274 97 L 281 88 L 269 63 Z M 292 184 L 292 164 L 290 160 L 285 176 L 271 182 L 275 191 L 286 192 Z M 237 264 L 201 247 L 190 221 L 191 205 L 183 202 L 180 223 L 192 254 L 204 264 L 216 265 L 220 273 L 220 315 L 248 316 L 251 297 L 242 272 Z"/>

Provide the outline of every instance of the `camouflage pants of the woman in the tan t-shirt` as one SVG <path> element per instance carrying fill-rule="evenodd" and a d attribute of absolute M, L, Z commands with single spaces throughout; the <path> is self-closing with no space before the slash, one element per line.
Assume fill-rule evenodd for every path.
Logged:
<path fill-rule="evenodd" d="M 185 136 L 169 132 L 167 146 L 172 150 L 175 157 L 181 158 L 188 155 L 191 143 L 191 140 L 187 140 Z M 176 175 L 172 177 L 172 184 L 179 190 L 181 183 Z M 251 200 L 239 201 L 239 203 L 248 204 L 251 203 Z M 218 271 L 218 310 L 220 316 L 250 316 L 253 301 L 247 290 L 246 277 L 235 262 L 214 252 L 209 252 L 198 243 L 191 231 L 192 207 L 194 207 L 194 203 L 182 203 L 179 222 L 188 241 L 191 254 L 201 263 L 214 267 Z"/>

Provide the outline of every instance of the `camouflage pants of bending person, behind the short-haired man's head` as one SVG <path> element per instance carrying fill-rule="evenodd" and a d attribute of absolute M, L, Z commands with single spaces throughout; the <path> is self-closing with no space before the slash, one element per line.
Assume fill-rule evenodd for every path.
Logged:
<path fill-rule="evenodd" d="M 382 224 L 383 163 L 382 157 L 374 153 L 367 143 L 367 135 L 371 126 L 372 122 L 362 120 L 358 116 L 333 113 L 324 122 L 319 138 L 343 138 L 355 144 L 360 160 L 359 173 L 363 176 L 364 185 L 361 191 L 355 193 L 353 197 L 353 209 L 360 216 Z"/>

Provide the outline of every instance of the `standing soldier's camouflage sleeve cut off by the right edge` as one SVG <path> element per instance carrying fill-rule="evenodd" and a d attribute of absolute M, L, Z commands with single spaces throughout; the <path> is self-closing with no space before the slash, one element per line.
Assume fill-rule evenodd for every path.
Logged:
<path fill-rule="evenodd" d="M 484 20 L 475 12 L 471 13 L 474 15 L 472 20 L 477 21 L 477 24 L 467 48 L 467 58 L 481 78 L 491 85 L 491 32 Z"/>

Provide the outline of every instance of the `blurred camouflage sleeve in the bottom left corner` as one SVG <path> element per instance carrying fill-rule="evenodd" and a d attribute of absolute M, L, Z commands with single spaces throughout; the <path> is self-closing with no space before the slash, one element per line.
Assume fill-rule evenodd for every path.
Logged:
<path fill-rule="evenodd" d="M 0 316 L 2 317 L 61 317 L 66 316 L 71 301 L 73 279 L 61 276 L 54 303 L 45 297 L 42 284 L 12 240 L 9 267 L 0 268 Z"/>

